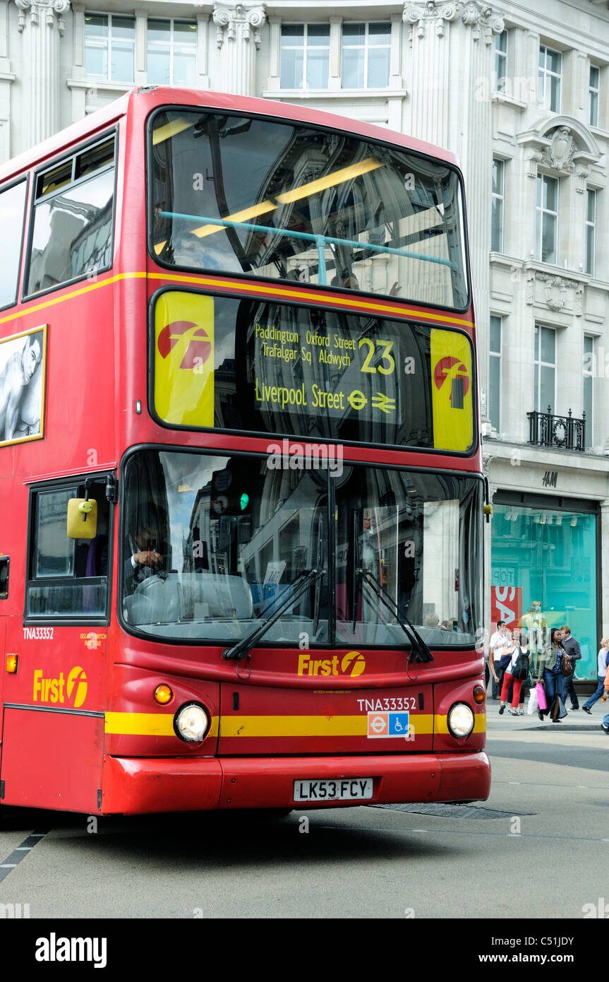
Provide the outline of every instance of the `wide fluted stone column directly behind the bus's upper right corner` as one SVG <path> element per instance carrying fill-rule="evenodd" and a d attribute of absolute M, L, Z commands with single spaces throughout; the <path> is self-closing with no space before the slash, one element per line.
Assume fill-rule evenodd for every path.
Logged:
<path fill-rule="evenodd" d="M 459 157 L 467 193 L 470 256 L 479 325 L 480 383 L 488 389 L 488 253 L 492 179 L 494 37 L 503 19 L 488 5 L 406 3 L 412 79 L 408 132 Z M 485 82 L 485 84 L 482 84 Z"/>

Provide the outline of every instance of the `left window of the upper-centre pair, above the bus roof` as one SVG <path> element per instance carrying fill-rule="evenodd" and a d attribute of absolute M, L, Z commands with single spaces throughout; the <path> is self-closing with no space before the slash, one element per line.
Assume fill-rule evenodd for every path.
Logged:
<path fill-rule="evenodd" d="M 281 25 L 281 88 L 328 88 L 330 25 Z"/>

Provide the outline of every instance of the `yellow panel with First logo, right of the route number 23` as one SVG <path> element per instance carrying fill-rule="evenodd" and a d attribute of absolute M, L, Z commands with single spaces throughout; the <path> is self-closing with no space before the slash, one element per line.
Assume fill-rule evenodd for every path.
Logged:
<path fill-rule="evenodd" d="M 436 450 L 468 450 L 474 439 L 472 346 L 456 331 L 431 328 L 431 409 Z"/>

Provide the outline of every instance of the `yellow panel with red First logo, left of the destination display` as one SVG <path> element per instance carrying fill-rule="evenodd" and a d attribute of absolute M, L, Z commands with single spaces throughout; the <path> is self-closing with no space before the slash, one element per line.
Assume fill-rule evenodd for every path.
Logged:
<path fill-rule="evenodd" d="M 180 426 L 214 425 L 214 299 L 169 291 L 154 312 L 154 405 Z"/>

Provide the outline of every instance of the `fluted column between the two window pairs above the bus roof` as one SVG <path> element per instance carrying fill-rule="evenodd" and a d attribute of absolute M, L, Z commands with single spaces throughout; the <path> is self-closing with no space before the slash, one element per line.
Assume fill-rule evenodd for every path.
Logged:
<path fill-rule="evenodd" d="M 257 95 L 256 55 L 260 47 L 260 28 L 266 20 L 264 3 L 217 3 L 214 5 L 216 44 L 224 70 L 222 85 L 234 95 Z"/>

